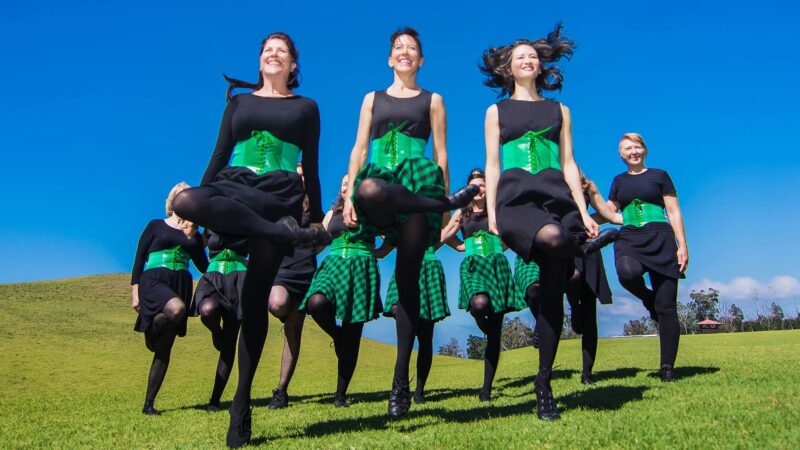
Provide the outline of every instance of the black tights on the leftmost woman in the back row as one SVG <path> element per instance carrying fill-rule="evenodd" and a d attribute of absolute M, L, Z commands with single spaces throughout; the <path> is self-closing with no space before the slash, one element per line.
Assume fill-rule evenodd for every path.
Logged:
<path fill-rule="evenodd" d="M 170 299 L 164 309 L 153 318 L 150 330 L 153 339 L 153 362 L 150 364 L 150 374 L 147 376 L 146 402 L 154 402 L 161 384 L 167 376 L 169 359 L 172 354 L 172 345 L 177 336 L 176 327 L 186 314 L 186 305 L 179 298 Z"/>

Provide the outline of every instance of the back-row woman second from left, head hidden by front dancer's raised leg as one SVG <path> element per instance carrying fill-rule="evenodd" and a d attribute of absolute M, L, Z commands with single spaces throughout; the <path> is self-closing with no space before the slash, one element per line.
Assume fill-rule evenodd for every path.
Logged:
<path fill-rule="evenodd" d="M 189 310 L 192 316 L 200 316 L 200 321 L 211 331 L 211 342 L 219 351 L 214 388 L 206 406 L 207 411 L 217 412 L 236 356 L 236 337 L 242 321 L 240 299 L 247 270 L 247 240 L 219 235 L 209 229 L 203 235 L 211 262 L 197 283 Z"/>

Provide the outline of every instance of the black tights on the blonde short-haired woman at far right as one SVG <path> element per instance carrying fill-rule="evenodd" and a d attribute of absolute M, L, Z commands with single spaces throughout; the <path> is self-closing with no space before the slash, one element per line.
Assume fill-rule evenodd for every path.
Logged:
<path fill-rule="evenodd" d="M 639 261 L 622 256 L 616 260 L 619 283 L 631 294 L 638 297 L 645 305 L 648 302 L 658 318 L 658 339 L 661 344 L 661 364 L 675 365 L 680 340 L 680 322 L 678 321 L 678 280 L 666 277 L 655 271 L 650 272 L 648 289 L 644 283 L 644 274 L 648 270 Z"/>

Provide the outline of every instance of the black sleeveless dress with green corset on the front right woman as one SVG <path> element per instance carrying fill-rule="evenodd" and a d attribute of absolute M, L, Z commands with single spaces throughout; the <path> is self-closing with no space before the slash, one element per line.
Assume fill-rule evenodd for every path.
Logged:
<path fill-rule="evenodd" d="M 514 253 L 541 265 L 545 255 L 535 251 L 533 241 L 543 226 L 560 224 L 585 237 L 578 205 L 558 163 L 561 104 L 507 99 L 497 103 L 497 112 L 505 166 L 497 184 L 497 228 Z M 525 153 L 527 167 L 509 168 L 511 152 Z"/>

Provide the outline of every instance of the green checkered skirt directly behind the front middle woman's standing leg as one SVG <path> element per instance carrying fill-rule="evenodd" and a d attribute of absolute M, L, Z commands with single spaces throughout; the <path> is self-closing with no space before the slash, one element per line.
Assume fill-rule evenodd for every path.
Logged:
<path fill-rule="evenodd" d="M 394 316 L 392 306 L 397 304 L 398 298 L 397 283 L 392 275 L 389 291 L 386 293 L 386 303 L 383 305 L 384 316 Z M 419 277 L 419 318 L 435 322 L 449 315 L 450 307 L 447 306 L 447 287 L 444 282 L 442 262 L 438 259 L 423 260 Z"/>

